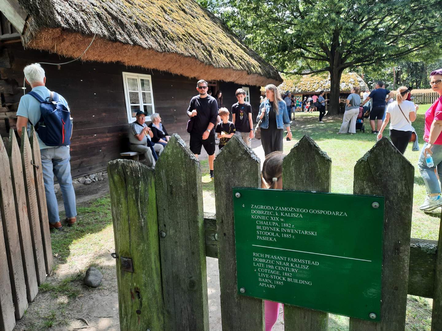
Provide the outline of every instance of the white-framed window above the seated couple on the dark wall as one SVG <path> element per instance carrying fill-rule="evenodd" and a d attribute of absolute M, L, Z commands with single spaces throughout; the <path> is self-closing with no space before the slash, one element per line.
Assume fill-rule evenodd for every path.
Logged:
<path fill-rule="evenodd" d="M 139 110 L 145 112 L 146 121 L 150 121 L 150 115 L 155 113 L 151 75 L 123 72 L 123 85 L 127 122 L 134 122 Z"/>

